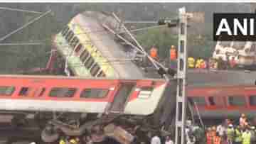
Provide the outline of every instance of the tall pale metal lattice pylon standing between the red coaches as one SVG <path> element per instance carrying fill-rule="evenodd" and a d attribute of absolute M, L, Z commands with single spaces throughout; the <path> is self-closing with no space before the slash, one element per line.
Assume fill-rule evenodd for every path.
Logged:
<path fill-rule="evenodd" d="M 186 125 L 186 71 L 187 71 L 187 16 L 185 7 L 178 9 L 178 70 L 176 92 L 175 144 L 185 144 Z"/>

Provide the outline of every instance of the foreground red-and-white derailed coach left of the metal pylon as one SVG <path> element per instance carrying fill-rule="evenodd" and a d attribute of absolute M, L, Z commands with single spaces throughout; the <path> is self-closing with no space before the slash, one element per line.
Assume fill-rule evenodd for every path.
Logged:
<path fill-rule="evenodd" d="M 0 79 L 0 109 L 48 118 L 42 132 L 47 142 L 56 140 L 60 133 L 80 136 L 95 125 L 110 123 L 127 131 L 135 126 L 152 131 L 175 111 L 175 81 L 18 75 L 2 75 Z"/>

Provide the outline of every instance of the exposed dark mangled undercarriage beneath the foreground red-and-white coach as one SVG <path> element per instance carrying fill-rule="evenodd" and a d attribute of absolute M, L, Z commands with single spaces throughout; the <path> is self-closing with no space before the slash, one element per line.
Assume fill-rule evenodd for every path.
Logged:
<path fill-rule="evenodd" d="M 1 123 L 19 130 L 21 128 L 40 129 L 41 140 L 52 143 L 61 136 L 85 139 L 90 136 L 93 142 L 112 138 L 117 143 L 149 142 L 152 133 L 171 135 L 159 126 L 154 116 L 128 116 L 119 113 L 51 113 L 51 112 L 1 112 Z M 174 126 L 174 123 L 173 125 Z M 38 132 L 37 132 L 38 133 Z"/>

